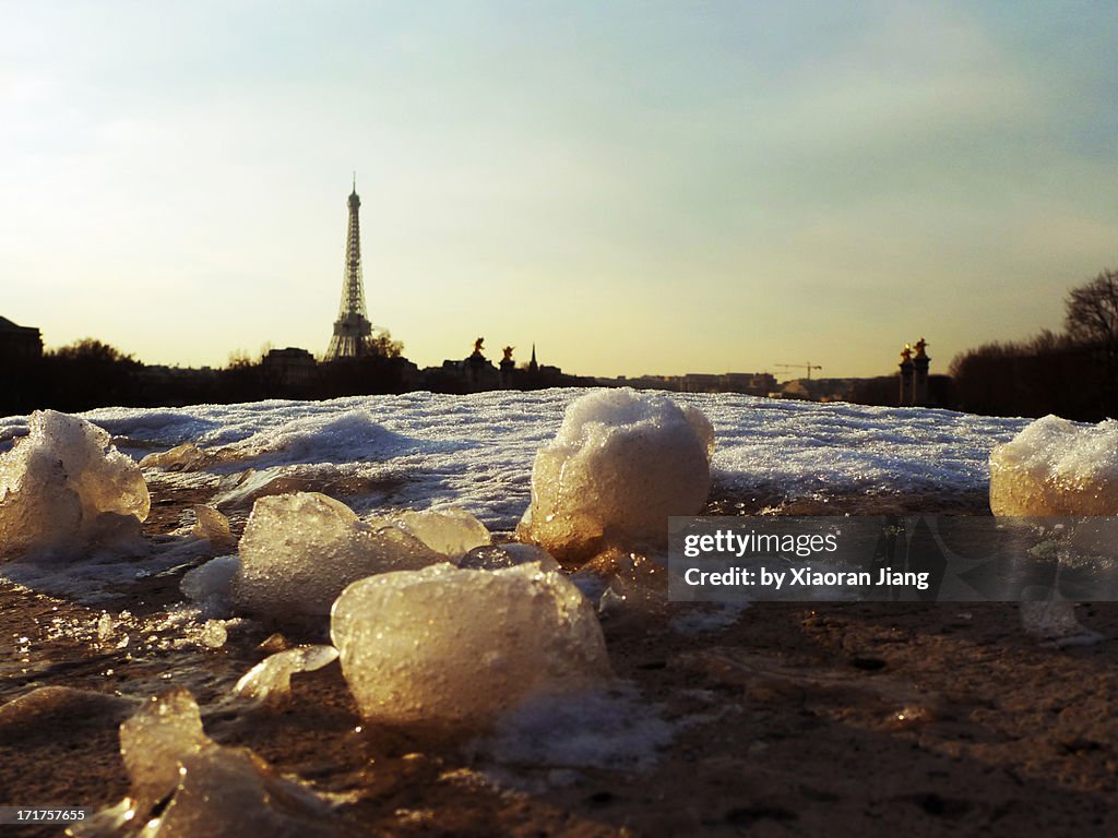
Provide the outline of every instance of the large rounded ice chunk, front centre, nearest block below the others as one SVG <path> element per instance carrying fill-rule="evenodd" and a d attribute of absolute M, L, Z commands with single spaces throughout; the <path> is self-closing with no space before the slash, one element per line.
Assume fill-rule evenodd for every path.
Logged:
<path fill-rule="evenodd" d="M 362 715 L 394 724 L 476 729 L 609 676 L 594 611 L 536 564 L 362 579 L 338 598 L 330 630 Z"/>

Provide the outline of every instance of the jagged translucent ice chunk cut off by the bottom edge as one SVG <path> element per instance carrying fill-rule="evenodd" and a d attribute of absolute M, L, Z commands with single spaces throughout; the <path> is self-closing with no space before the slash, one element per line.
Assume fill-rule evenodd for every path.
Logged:
<path fill-rule="evenodd" d="M 182 687 L 121 725 L 121 754 L 133 800 L 100 816 L 102 822 L 135 820 L 145 823 L 145 836 L 335 834 L 330 806 L 309 788 L 280 777 L 248 749 L 210 740 Z"/>

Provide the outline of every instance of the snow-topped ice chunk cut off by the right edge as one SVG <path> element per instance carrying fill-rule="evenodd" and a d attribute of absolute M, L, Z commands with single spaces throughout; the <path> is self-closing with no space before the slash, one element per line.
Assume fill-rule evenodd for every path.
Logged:
<path fill-rule="evenodd" d="M 1046 416 L 989 455 L 995 515 L 1118 515 L 1118 421 Z"/>

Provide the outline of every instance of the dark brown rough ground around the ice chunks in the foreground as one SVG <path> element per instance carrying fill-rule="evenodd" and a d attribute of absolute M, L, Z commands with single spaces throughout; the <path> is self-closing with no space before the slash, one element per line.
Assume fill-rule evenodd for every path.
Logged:
<path fill-rule="evenodd" d="M 149 534 L 173 528 L 195 499 L 157 494 Z M 954 498 L 938 511 L 980 513 L 984 503 Z M 727 498 L 710 511 L 765 506 Z M 907 510 L 937 511 L 897 497 L 825 511 Z M 1116 603 L 1079 607 L 1102 642 L 1053 648 L 1022 630 L 1014 604 L 759 603 L 729 627 L 681 635 L 671 619 L 694 606 L 654 593 L 603 627 L 617 676 L 679 722 L 672 743 L 644 772 L 522 765 L 512 788 L 461 743 L 357 732 L 337 663 L 296 676 L 282 708 L 230 710 L 231 685 L 266 656 L 258 645 L 274 627 L 231 629 L 217 649 L 174 648 L 180 629 L 157 618 L 181 598 L 179 575 L 145 580 L 108 609 L 0 584 L 0 701 L 42 686 L 97 694 L 0 708 L 0 803 L 117 802 L 129 790 L 117 735 L 126 699 L 183 685 L 216 741 L 344 796 L 339 834 L 1118 835 Z M 104 610 L 113 622 L 98 634 Z"/>

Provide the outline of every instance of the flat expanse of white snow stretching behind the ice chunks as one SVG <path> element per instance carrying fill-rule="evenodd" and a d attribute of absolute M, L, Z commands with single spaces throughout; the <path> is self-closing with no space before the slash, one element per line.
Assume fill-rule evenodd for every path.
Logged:
<path fill-rule="evenodd" d="M 511 530 L 529 503 L 536 450 L 555 436 L 567 404 L 585 392 L 416 392 L 321 402 L 105 408 L 85 416 L 136 458 L 195 442 L 230 449 L 226 461 L 207 468 L 216 474 L 333 464 L 343 476 L 390 482 L 391 506 L 455 503 L 492 530 Z M 1029 421 L 739 394 L 667 396 L 699 408 L 714 425 L 716 496 L 983 489 L 991 449 Z M 0 450 L 25 428 L 23 417 L 0 419 Z M 360 510 L 381 502 L 353 505 Z"/>

